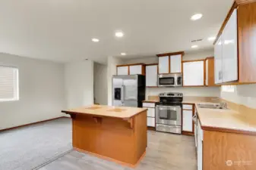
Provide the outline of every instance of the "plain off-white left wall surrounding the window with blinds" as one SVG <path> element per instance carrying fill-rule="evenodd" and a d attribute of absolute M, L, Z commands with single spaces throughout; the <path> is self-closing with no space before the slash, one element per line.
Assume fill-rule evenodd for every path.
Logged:
<path fill-rule="evenodd" d="M 0 102 L 0 129 L 64 116 L 64 64 L 0 54 L 0 64 L 17 66 L 20 100 Z"/>

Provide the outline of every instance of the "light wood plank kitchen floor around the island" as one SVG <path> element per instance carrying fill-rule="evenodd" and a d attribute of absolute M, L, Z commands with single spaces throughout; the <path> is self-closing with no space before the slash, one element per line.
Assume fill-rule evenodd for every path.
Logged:
<path fill-rule="evenodd" d="M 196 170 L 194 137 L 148 131 L 147 153 L 136 168 L 71 151 L 40 170 Z"/>

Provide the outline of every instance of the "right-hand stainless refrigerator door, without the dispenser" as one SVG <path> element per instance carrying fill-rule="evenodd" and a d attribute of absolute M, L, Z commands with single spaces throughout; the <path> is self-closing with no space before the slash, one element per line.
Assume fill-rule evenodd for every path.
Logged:
<path fill-rule="evenodd" d="M 123 79 L 124 101 L 137 101 L 137 76 Z"/>

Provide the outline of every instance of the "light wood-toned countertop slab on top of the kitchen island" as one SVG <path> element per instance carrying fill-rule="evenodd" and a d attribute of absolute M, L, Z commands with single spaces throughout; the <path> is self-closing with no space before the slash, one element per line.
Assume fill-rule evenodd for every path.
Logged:
<path fill-rule="evenodd" d="M 91 106 L 79 107 L 71 110 L 62 110 L 62 113 L 84 114 L 84 115 L 129 119 L 144 111 L 147 111 L 147 108 L 109 107 L 104 105 L 91 105 Z"/>

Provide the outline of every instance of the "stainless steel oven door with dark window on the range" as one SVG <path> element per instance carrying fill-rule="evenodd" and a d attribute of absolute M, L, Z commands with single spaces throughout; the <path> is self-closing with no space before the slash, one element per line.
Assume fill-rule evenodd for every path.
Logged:
<path fill-rule="evenodd" d="M 156 123 L 164 125 L 182 125 L 182 107 L 157 105 Z"/>

